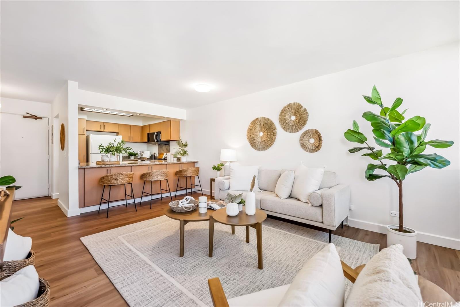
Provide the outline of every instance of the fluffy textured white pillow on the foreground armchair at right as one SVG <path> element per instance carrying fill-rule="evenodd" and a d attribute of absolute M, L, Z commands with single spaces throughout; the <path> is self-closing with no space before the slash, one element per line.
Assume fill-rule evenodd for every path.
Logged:
<path fill-rule="evenodd" d="M 372 257 L 359 273 L 345 306 L 421 306 L 422 296 L 401 244 Z"/>

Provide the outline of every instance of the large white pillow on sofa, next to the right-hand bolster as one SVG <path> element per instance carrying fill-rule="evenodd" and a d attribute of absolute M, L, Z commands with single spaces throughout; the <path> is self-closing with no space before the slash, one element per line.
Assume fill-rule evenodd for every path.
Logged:
<path fill-rule="evenodd" d="M 312 168 L 300 164 L 295 170 L 291 197 L 307 203 L 310 193 L 319 189 L 323 175 L 324 167 Z"/>

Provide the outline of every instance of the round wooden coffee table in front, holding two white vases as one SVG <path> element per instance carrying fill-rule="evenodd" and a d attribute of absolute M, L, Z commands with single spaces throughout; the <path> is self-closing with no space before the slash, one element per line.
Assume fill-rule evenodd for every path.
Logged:
<path fill-rule="evenodd" d="M 232 234 L 235 233 L 235 226 L 246 226 L 246 242 L 249 243 L 249 227 L 256 229 L 257 233 L 257 262 L 259 269 L 263 269 L 262 261 L 262 222 L 267 218 L 267 214 L 260 209 L 256 209 L 256 214 L 248 216 L 246 214 L 246 208 L 243 206 L 243 210 L 239 212 L 237 216 L 228 216 L 226 208 L 222 208 L 213 212 L 212 216 L 209 217 L 209 256 L 213 256 L 213 244 L 214 244 L 214 223 L 219 222 L 221 224 L 230 225 L 232 227 Z"/>

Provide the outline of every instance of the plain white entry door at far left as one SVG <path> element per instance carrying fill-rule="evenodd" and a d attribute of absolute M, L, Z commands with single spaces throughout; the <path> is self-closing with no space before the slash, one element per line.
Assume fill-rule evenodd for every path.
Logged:
<path fill-rule="evenodd" d="M 6 175 L 22 186 L 15 199 L 48 196 L 47 118 L 0 113 L 0 176 Z"/>

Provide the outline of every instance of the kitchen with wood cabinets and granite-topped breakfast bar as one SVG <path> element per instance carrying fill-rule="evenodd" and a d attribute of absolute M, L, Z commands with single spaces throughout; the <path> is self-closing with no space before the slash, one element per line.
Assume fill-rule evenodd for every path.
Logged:
<path fill-rule="evenodd" d="M 98 210 L 103 193 L 103 186 L 99 179 L 108 174 L 120 172 L 133 172 L 134 179 L 131 186 L 127 185 L 127 194 L 134 194 L 136 202 L 139 202 L 144 180 L 140 177 L 143 173 L 154 170 L 170 170 L 168 183 L 171 192 L 176 187 L 187 187 L 190 192 L 190 184 L 195 184 L 195 178 L 185 182 L 184 177 L 175 176 L 176 171 L 194 167 L 198 161 L 184 161 L 186 157 L 173 159 L 171 151 L 177 146 L 176 141 L 180 138 L 180 121 L 158 116 L 145 116 L 140 114 L 128 114 L 117 110 L 98 109 L 91 107 L 79 107 L 78 118 L 78 151 L 79 151 L 79 208 L 81 213 Z M 118 143 L 125 141 L 125 148 L 136 153 L 135 159 L 130 159 L 125 153 L 113 156 L 101 151 L 100 144 L 105 147 L 109 142 Z M 170 142 L 172 147 L 170 148 Z M 132 154 L 131 153 L 131 154 Z M 169 159 L 167 159 L 169 158 Z M 104 161 L 101 161 L 104 160 Z M 166 182 L 163 182 L 165 188 Z M 111 188 L 110 207 L 125 204 L 124 186 Z M 144 191 L 150 193 L 150 187 Z M 160 195 L 160 183 L 152 183 L 152 199 L 161 196 L 169 196 L 162 191 Z M 184 191 L 178 192 L 178 194 Z M 173 193 L 174 194 L 174 193 Z M 107 191 L 104 193 L 107 199 Z M 150 196 L 143 196 L 143 201 L 150 200 Z M 113 201 L 113 202 L 112 202 Z M 132 200 L 128 200 L 128 204 Z M 107 208 L 106 202 L 101 209 Z"/>

